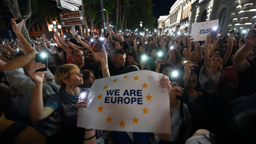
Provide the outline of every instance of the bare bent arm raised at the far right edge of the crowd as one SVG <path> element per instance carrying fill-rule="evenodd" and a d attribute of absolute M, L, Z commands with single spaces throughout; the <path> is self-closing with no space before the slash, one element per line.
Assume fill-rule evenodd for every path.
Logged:
<path fill-rule="evenodd" d="M 245 35 L 245 45 L 243 45 L 235 54 L 233 58 L 234 68 L 237 72 L 241 73 L 250 64 L 246 61 L 246 57 L 251 50 L 251 48 L 256 44 L 256 24 Z"/>

